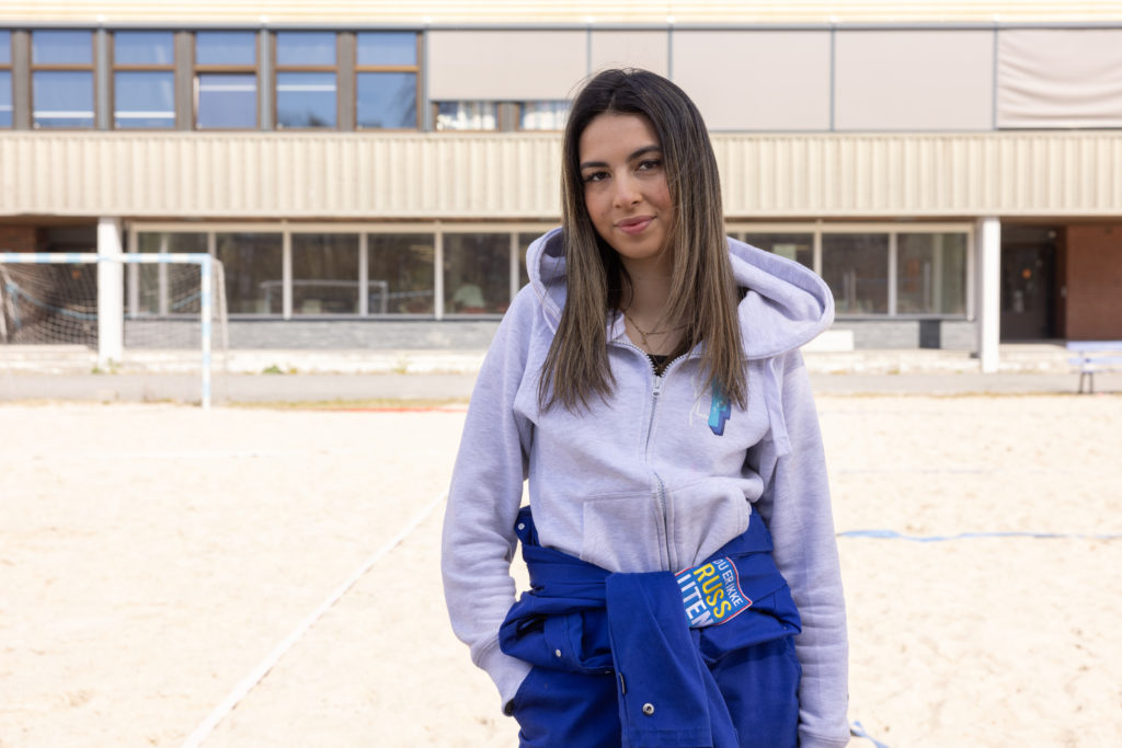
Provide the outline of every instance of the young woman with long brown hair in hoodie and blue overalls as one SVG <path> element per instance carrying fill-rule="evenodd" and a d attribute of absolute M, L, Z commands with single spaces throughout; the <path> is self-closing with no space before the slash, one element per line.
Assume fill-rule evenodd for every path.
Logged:
<path fill-rule="evenodd" d="M 829 290 L 725 238 L 705 123 L 670 81 L 600 73 L 563 151 L 563 225 L 530 247 L 456 463 L 452 626 L 522 746 L 844 746 L 845 610 L 799 353 Z"/>

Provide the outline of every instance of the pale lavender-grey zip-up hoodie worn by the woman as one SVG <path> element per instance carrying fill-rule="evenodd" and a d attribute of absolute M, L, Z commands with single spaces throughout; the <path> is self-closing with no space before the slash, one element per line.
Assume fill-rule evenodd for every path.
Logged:
<path fill-rule="evenodd" d="M 607 331 L 613 395 L 590 410 L 542 412 L 537 381 L 564 305 L 561 231 L 531 244 L 530 285 L 507 311 L 471 396 L 444 516 L 452 627 L 509 701 L 530 671 L 498 648 L 514 603 L 514 521 L 530 480 L 543 546 L 609 571 L 680 571 L 766 521 L 802 618 L 799 737 L 848 742 L 845 604 L 818 416 L 799 347 L 834 299 L 802 266 L 729 239 L 748 405 L 723 408 L 697 351 L 655 376 L 624 331 Z M 684 613 L 683 613 L 684 615 Z"/>

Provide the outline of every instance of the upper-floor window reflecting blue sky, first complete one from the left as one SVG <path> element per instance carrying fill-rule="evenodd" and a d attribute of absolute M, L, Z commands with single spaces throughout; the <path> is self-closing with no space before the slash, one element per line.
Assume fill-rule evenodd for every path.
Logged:
<path fill-rule="evenodd" d="M 93 33 L 31 31 L 35 127 L 93 127 Z"/>

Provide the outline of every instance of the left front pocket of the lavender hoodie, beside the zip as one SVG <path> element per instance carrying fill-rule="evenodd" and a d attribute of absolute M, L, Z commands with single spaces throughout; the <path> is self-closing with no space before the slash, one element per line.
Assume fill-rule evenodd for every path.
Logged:
<path fill-rule="evenodd" d="M 585 499 L 580 557 L 614 572 L 666 566 L 665 518 L 650 493 L 614 493 Z"/>

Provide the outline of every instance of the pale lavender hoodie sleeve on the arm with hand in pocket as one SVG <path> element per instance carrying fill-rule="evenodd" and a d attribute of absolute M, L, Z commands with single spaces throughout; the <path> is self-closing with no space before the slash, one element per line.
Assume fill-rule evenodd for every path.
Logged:
<path fill-rule="evenodd" d="M 444 514 L 441 572 L 456 635 L 471 659 L 514 698 L 530 666 L 503 654 L 498 629 L 514 603 L 511 560 L 522 502 L 531 425 L 514 409 L 536 313 L 522 293 L 503 318 L 484 359 L 468 407 Z"/>

